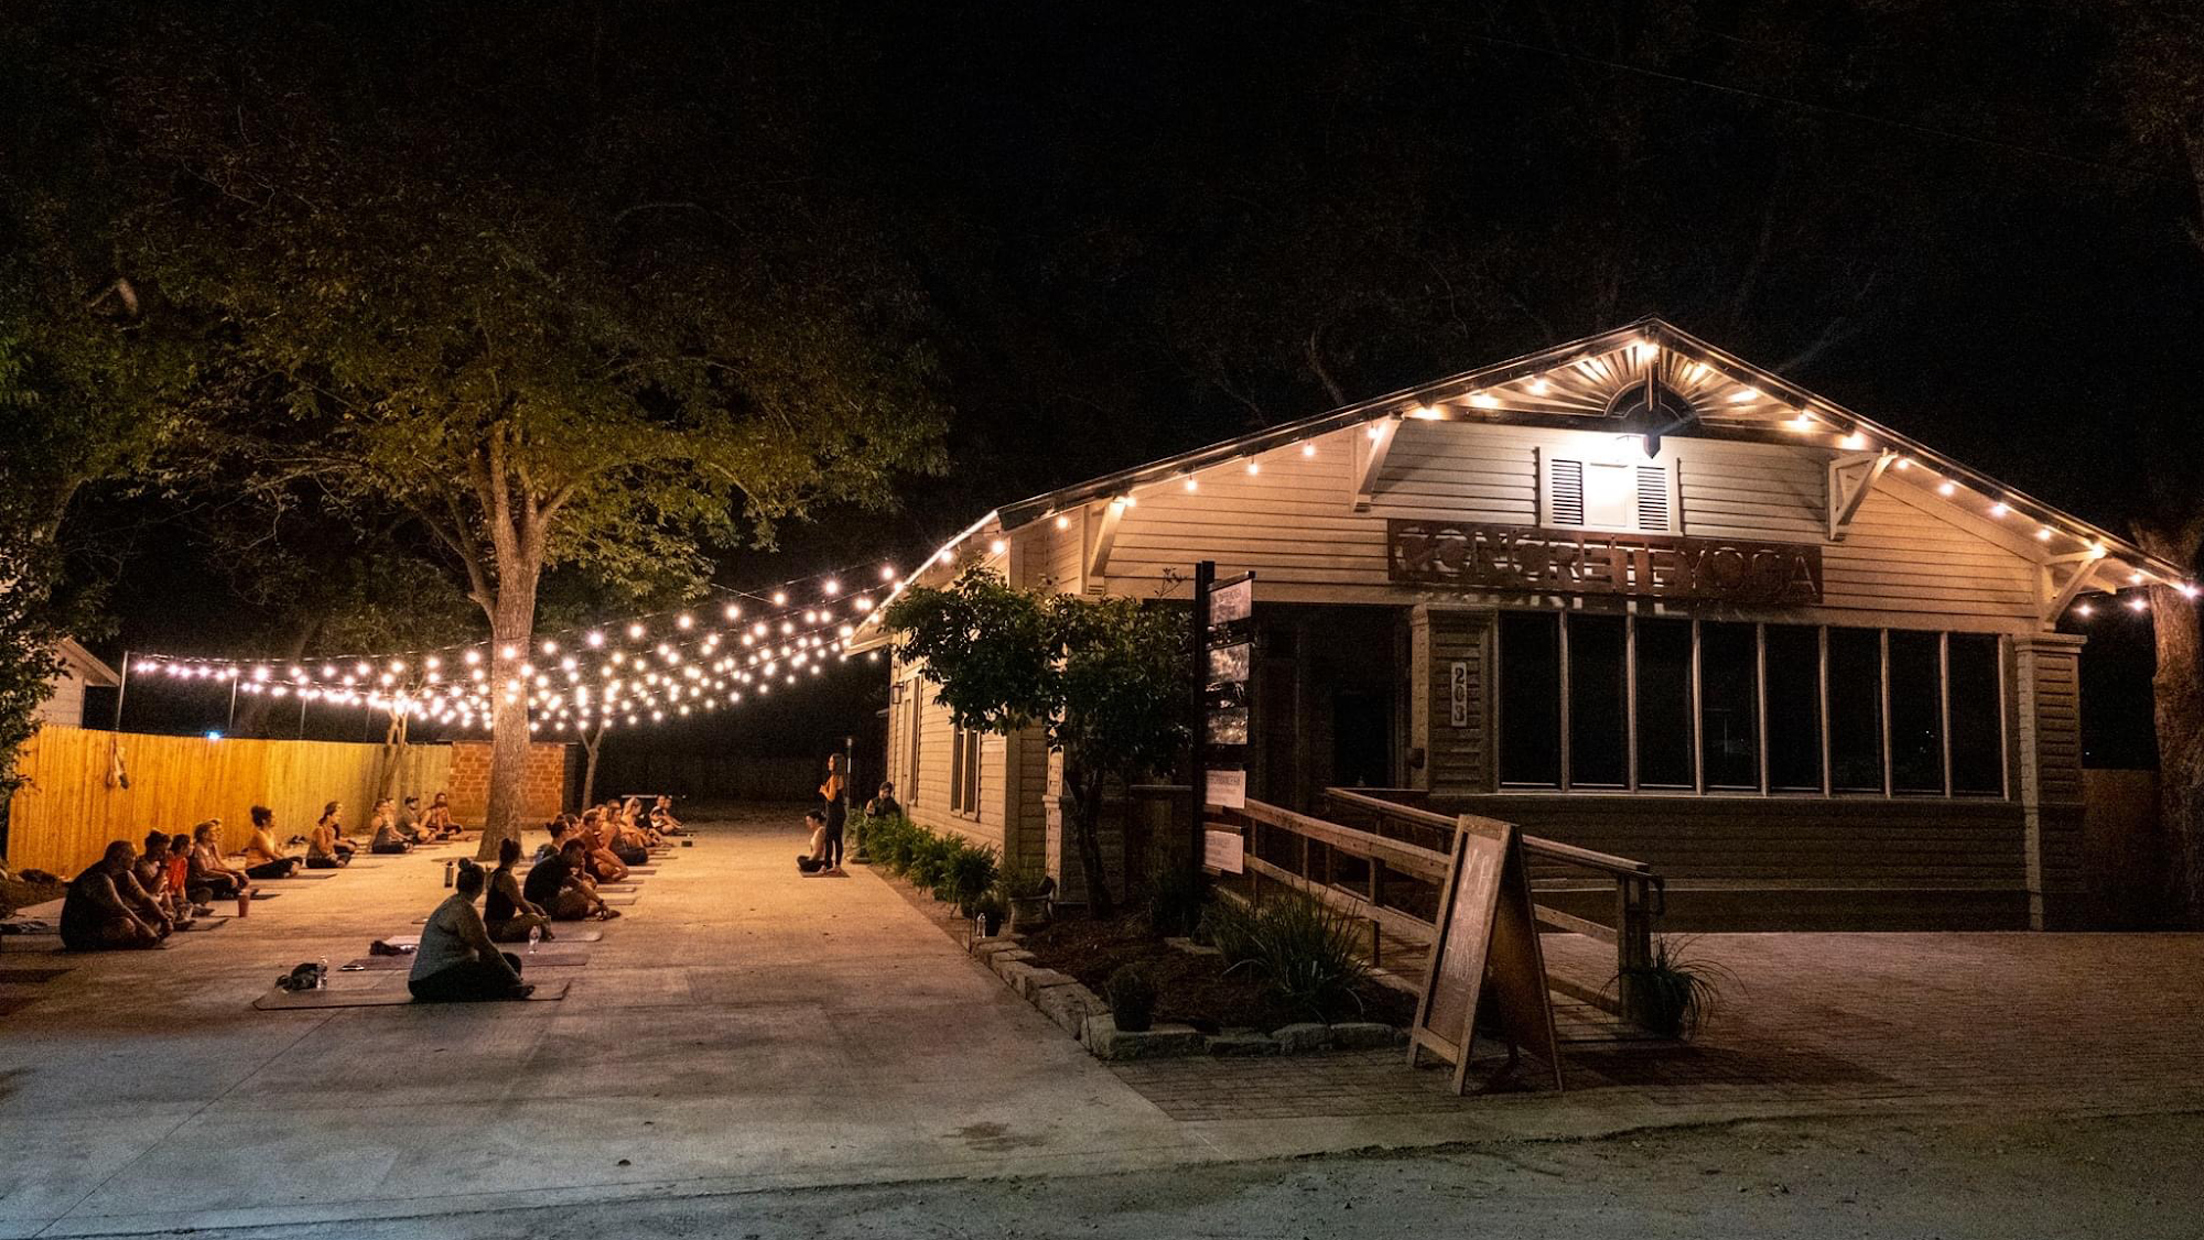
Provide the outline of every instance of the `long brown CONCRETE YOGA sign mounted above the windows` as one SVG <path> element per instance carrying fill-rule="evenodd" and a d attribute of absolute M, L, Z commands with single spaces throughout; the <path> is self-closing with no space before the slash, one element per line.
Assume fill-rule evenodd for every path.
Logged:
<path fill-rule="evenodd" d="M 1527 595 L 1818 603 L 1821 546 L 1386 520 L 1393 581 Z"/>

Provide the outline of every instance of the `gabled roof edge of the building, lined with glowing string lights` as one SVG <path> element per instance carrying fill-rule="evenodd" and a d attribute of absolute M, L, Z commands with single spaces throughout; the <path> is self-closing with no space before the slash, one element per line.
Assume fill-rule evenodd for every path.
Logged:
<path fill-rule="evenodd" d="M 1644 399 L 1633 399 L 1635 392 L 1642 392 Z M 1424 418 L 1640 434 L 1649 429 L 1642 423 L 1642 405 L 1646 403 L 1655 407 L 1684 405 L 1693 436 L 1794 443 L 1823 447 L 1838 456 L 1858 454 L 1858 460 L 1887 458 L 1884 465 L 1929 485 L 1942 502 L 1964 513 L 2021 526 L 2032 524 L 2034 542 L 2043 544 L 2048 559 L 2103 559 L 2127 568 L 2125 581 L 2100 581 L 2092 588 L 2162 584 L 2195 592 L 2184 566 L 2149 555 L 2109 529 L 2008 487 L 1660 317 L 1644 317 L 1494 366 L 1463 370 L 1005 504 L 941 546 L 908 579 L 921 579 L 926 568 L 946 564 L 959 544 L 990 526 L 1009 533 L 1084 504 L 1126 500 L 1142 487 L 1247 460 L 1347 427 L 1373 425 L 1371 434 L 1378 434 L 1375 423 Z"/>

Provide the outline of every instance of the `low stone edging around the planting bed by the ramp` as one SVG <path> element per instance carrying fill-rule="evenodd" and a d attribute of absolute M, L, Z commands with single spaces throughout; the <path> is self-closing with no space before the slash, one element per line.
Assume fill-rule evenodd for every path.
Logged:
<path fill-rule="evenodd" d="M 1166 1059 L 1184 1055 L 1307 1055 L 1316 1051 L 1373 1051 L 1402 1046 L 1406 1037 L 1391 1024 L 1353 1020 L 1340 1024 L 1287 1024 L 1272 1033 L 1228 1029 L 1201 1033 L 1190 1024 L 1157 1024 L 1139 1033 L 1117 1029 L 1109 1002 L 1071 973 L 1034 965 L 1034 954 L 1014 936 L 974 938 L 965 949 L 1003 978 L 1040 1015 L 1087 1046 L 1095 1059 Z"/>

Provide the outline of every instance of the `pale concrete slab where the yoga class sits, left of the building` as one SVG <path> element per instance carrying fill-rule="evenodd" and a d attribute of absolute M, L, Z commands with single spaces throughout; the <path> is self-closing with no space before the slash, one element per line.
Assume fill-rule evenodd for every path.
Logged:
<path fill-rule="evenodd" d="M 529 841 L 531 846 L 536 839 Z M 562 1002 L 253 1011 L 443 899 L 443 857 L 282 881 L 148 954 L 37 956 L 0 1024 L 0 1236 L 1139 1165 L 1199 1147 L 793 815 L 703 826 Z M 0 973 L 7 976 L 7 973 Z M 403 985 L 403 973 L 388 982 Z M 353 978 L 342 978 L 350 982 Z"/>

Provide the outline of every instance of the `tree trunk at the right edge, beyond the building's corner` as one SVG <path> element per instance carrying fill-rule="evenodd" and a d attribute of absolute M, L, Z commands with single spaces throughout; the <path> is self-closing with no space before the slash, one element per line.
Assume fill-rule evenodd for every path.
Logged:
<path fill-rule="evenodd" d="M 2193 566 L 2204 518 L 2182 526 L 2136 526 L 2151 555 Z M 2158 822 L 2169 850 L 2169 894 L 2189 925 L 2204 925 L 2204 634 L 2197 601 L 2171 586 L 2151 586 L 2158 643 L 2153 720 L 2158 725 Z"/>

